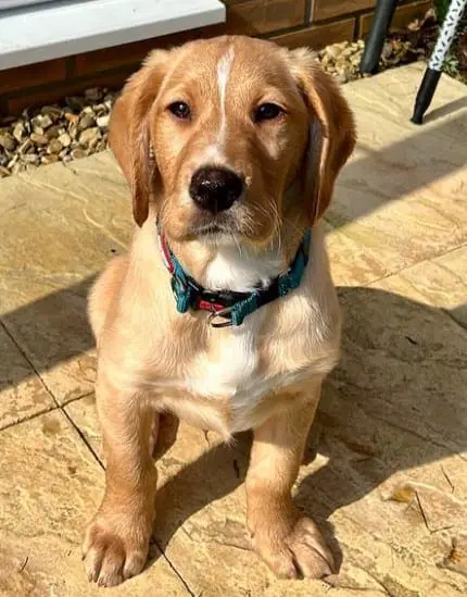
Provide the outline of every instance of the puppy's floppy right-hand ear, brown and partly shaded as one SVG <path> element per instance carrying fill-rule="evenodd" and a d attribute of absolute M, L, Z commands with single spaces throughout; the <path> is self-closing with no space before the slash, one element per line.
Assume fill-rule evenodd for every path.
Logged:
<path fill-rule="evenodd" d="M 310 113 L 302 184 L 311 225 L 331 201 L 336 178 L 355 146 L 355 125 L 337 82 L 306 48 L 289 52 L 289 64 Z"/>

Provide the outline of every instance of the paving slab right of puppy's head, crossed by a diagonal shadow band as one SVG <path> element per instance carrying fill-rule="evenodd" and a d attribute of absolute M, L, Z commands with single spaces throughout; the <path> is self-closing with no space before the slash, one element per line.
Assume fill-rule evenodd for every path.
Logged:
<path fill-rule="evenodd" d="M 467 242 L 466 88 L 442 77 L 426 123 L 412 124 L 424 70 L 343 87 L 358 142 L 326 214 L 339 284 L 368 284 Z"/>

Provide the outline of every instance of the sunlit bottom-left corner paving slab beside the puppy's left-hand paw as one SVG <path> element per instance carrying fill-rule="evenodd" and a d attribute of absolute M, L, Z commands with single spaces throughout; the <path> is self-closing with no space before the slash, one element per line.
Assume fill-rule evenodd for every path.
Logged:
<path fill-rule="evenodd" d="M 0 595 L 101 595 L 83 573 L 83 528 L 99 503 L 101 467 L 54 411 L 0 434 Z M 155 548 L 151 568 L 115 596 L 189 593 Z"/>

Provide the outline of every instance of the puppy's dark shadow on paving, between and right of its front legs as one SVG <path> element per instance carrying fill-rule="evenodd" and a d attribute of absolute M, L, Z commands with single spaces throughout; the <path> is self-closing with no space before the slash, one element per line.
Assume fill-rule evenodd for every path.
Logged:
<path fill-rule="evenodd" d="M 336 510 L 399 471 L 466 448 L 467 336 L 449 313 L 391 293 L 361 287 L 339 295 L 341 363 L 324 385 L 304 455 L 305 464 L 317 452 L 327 463 L 299 481 L 295 500 L 321 526 L 340 563 L 327 522 Z M 240 434 L 234 446 L 217 445 L 166 481 L 156 497 L 159 547 L 243 482 L 250 444 L 251 435 Z"/>

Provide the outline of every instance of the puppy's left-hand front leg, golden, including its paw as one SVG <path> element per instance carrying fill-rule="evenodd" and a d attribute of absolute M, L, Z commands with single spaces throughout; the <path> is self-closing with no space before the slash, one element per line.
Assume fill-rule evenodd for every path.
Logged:
<path fill-rule="evenodd" d="M 83 549 L 89 580 L 111 586 L 138 574 L 148 557 L 156 485 L 150 453 L 154 413 L 142 396 L 117 390 L 103 375 L 96 391 L 105 494 Z"/>

